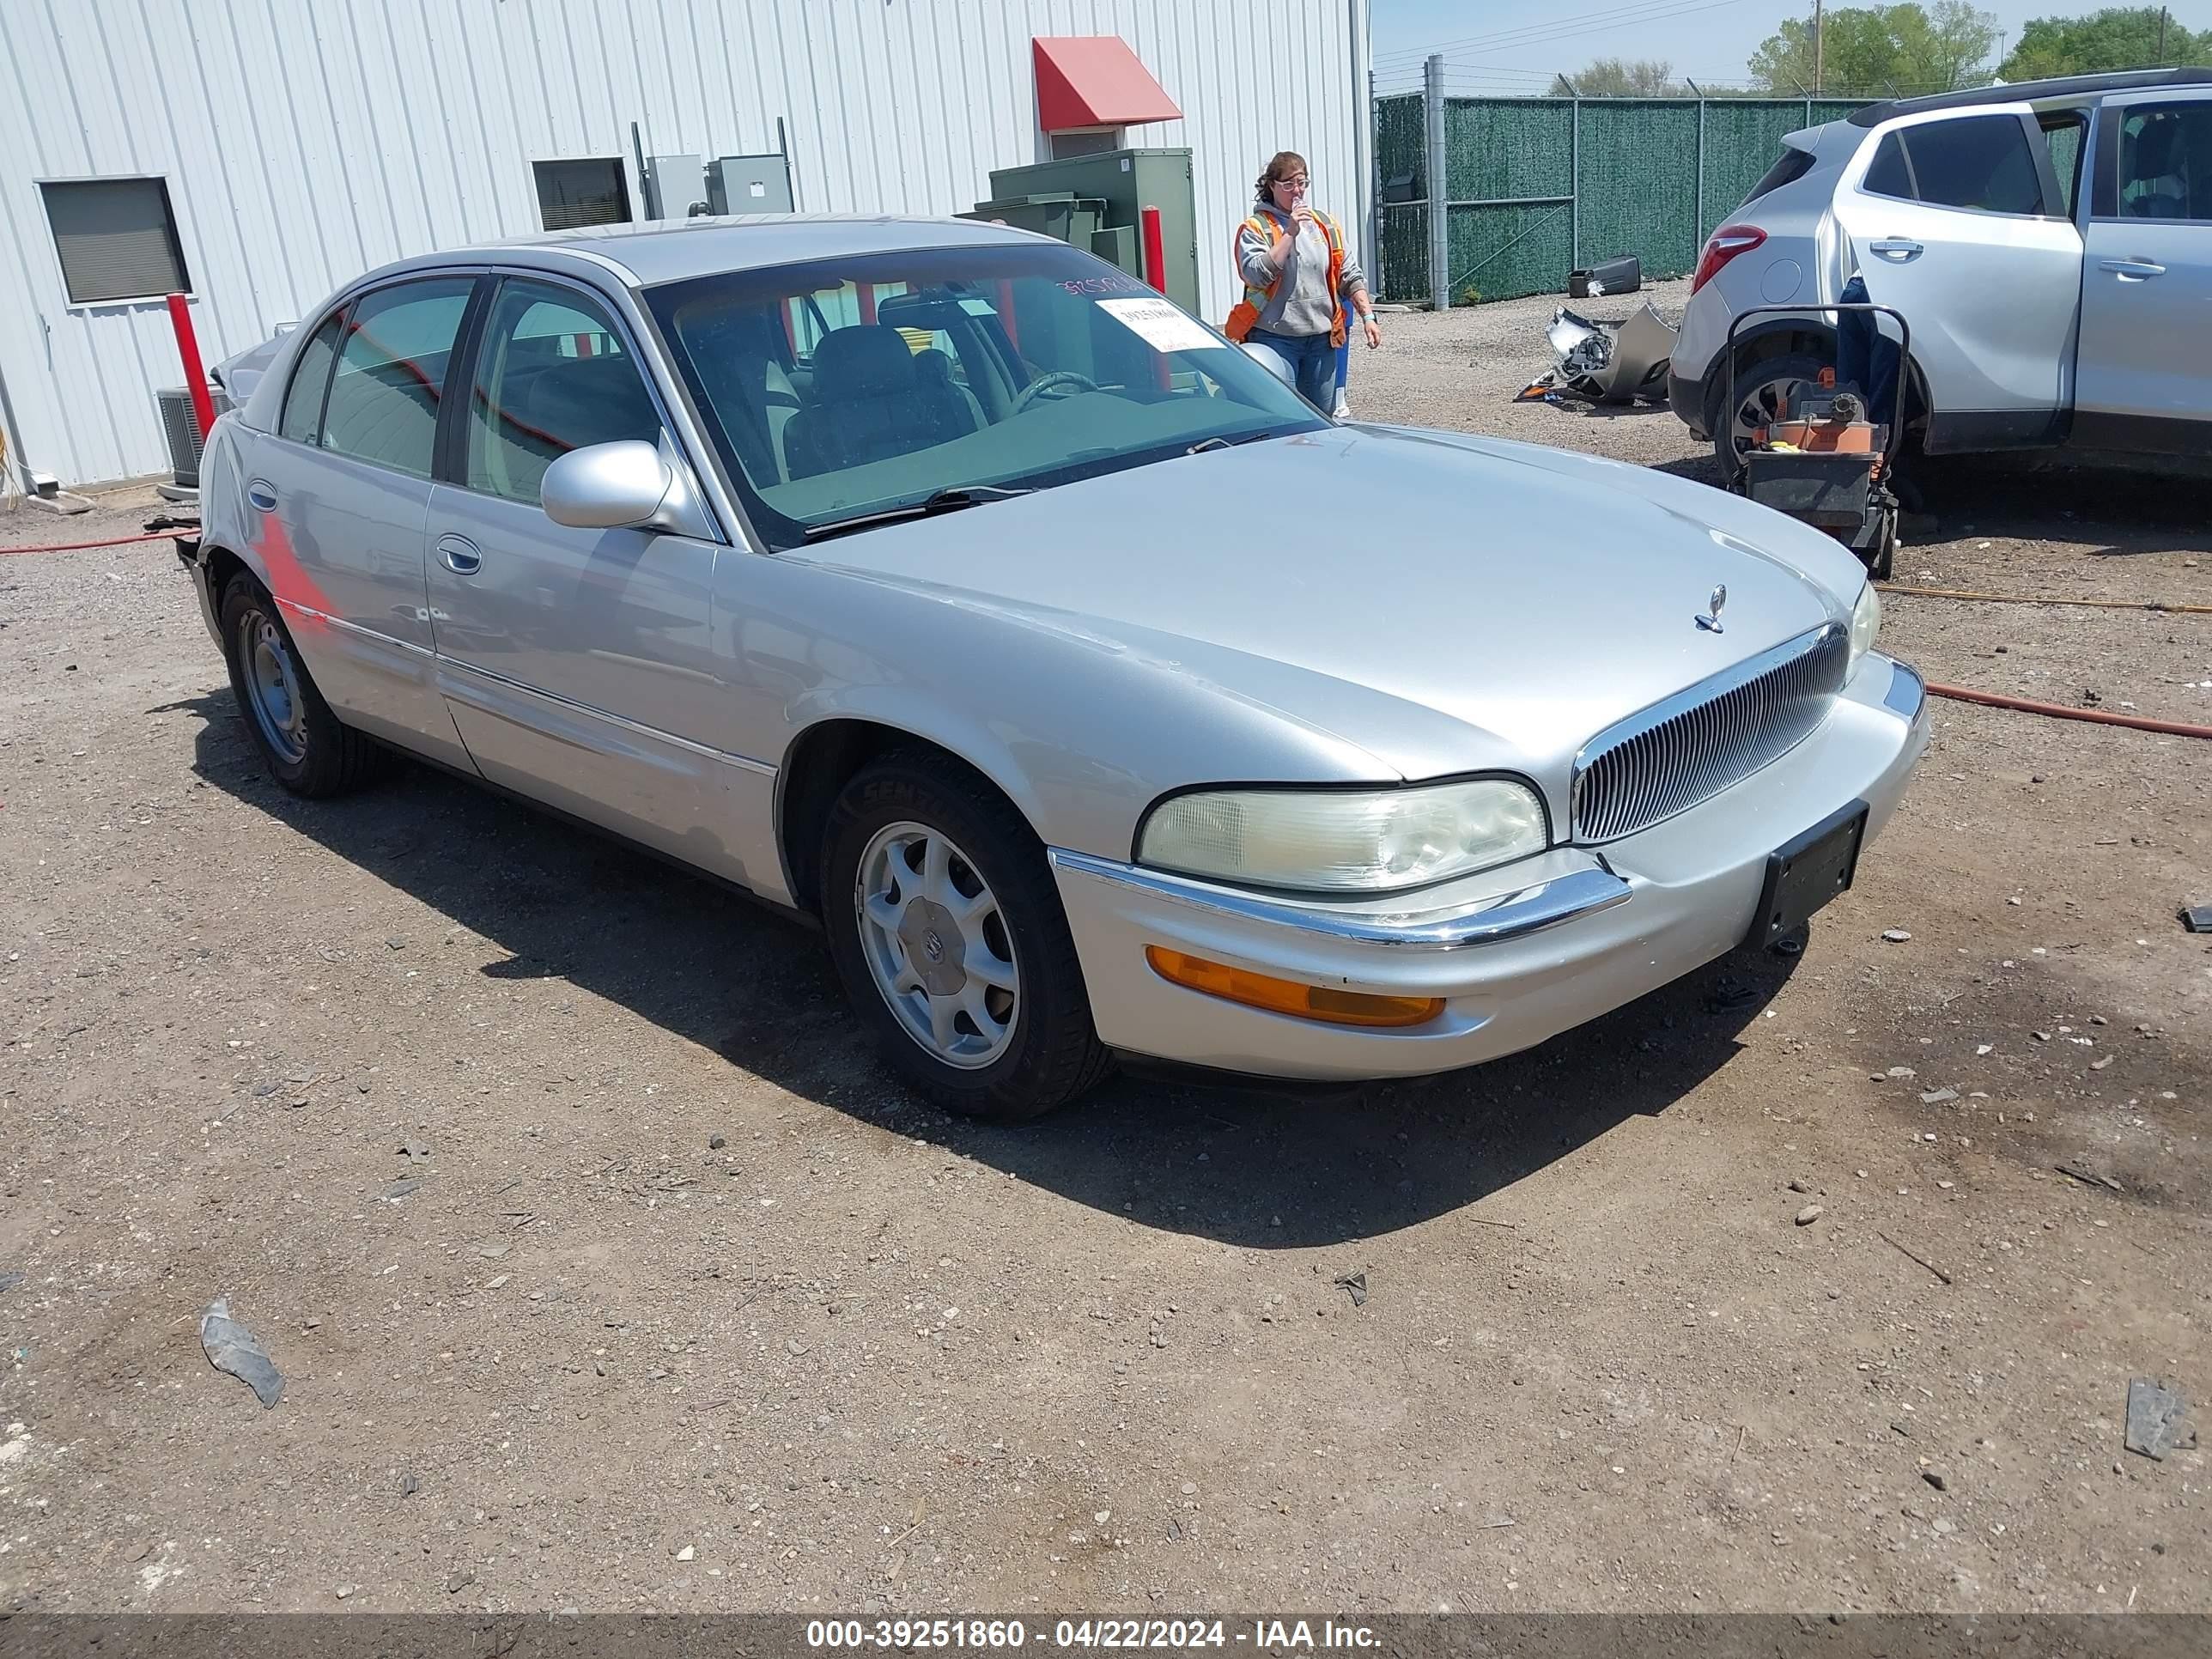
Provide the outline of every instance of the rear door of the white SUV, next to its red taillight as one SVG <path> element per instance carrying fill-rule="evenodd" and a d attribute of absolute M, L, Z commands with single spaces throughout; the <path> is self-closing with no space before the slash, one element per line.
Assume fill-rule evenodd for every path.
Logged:
<path fill-rule="evenodd" d="M 2073 398 L 2081 232 L 2026 104 L 1907 115 L 1843 173 L 1867 296 L 1905 312 L 1929 449 L 2055 442 Z"/>

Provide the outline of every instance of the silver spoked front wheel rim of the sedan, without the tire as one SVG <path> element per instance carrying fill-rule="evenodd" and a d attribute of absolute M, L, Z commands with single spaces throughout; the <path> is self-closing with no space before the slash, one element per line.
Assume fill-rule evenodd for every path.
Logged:
<path fill-rule="evenodd" d="M 852 905 L 869 978 L 907 1035 L 962 1071 L 998 1060 L 1022 1020 L 1022 969 L 973 860 L 940 830 L 885 825 Z"/>

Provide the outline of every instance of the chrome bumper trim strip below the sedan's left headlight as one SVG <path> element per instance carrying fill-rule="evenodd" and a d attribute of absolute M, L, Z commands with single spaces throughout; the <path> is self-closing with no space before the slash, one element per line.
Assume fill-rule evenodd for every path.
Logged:
<path fill-rule="evenodd" d="M 1168 876 L 1157 869 L 1093 858 L 1082 852 L 1051 849 L 1055 869 L 1093 880 L 1130 887 L 1146 898 L 1186 905 L 1214 916 L 1245 922 L 1294 927 L 1340 945 L 1387 945 L 1413 951 L 1460 951 L 1471 945 L 1504 940 L 1559 927 L 1582 916 L 1626 905 L 1630 887 L 1608 869 L 1577 869 L 1520 891 L 1489 898 L 1480 905 L 1458 905 L 1425 911 L 1354 911 L 1338 905 L 1312 905 L 1292 898 L 1265 898 L 1232 887 Z"/>

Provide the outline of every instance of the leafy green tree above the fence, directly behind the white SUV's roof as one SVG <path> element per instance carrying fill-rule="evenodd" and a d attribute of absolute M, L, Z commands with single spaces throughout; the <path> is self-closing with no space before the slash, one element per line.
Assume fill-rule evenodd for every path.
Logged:
<path fill-rule="evenodd" d="M 1814 86 L 1812 18 L 1792 18 L 1750 58 L 1770 93 L 1805 97 L 1891 97 L 1955 93 L 1989 80 L 1982 64 L 1997 44 L 1997 18 L 1966 0 L 1933 7 L 1845 7 L 1827 13 L 1820 84 Z"/>

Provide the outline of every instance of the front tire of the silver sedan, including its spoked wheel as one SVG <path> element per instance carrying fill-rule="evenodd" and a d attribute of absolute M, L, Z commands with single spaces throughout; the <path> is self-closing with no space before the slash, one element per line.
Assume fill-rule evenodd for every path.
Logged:
<path fill-rule="evenodd" d="M 1044 847 L 980 776 L 894 752 L 838 794 L 823 927 L 885 1062 L 960 1117 L 1042 1117 L 1113 1068 Z"/>

